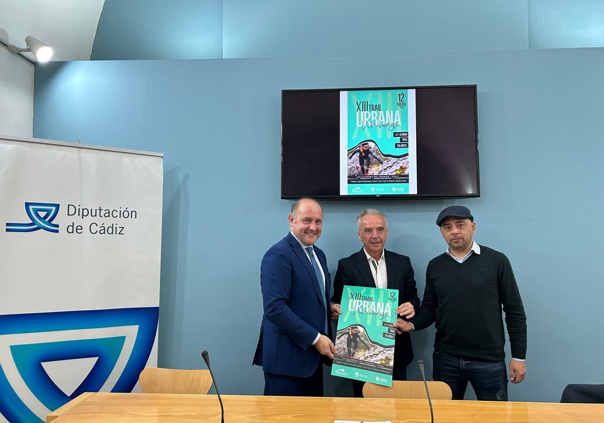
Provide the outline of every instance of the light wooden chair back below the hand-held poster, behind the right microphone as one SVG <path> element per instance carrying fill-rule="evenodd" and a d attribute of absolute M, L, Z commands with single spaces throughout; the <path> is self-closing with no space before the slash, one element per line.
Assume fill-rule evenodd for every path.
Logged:
<path fill-rule="evenodd" d="M 453 393 L 444 382 L 428 382 L 431 399 L 451 399 Z M 428 399 L 423 381 L 392 381 L 392 387 L 365 383 L 363 387 L 365 398 L 410 398 Z"/>

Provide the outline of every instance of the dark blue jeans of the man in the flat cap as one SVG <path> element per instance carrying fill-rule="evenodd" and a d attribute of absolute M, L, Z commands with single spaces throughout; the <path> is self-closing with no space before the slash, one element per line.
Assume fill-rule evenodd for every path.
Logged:
<path fill-rule="evenodd" d="M 507 401 L 505 361 L 475 360 L 434 350 L 432 379 L 448 384 L 453 399 L 463 399 L 469 382 L 480 401 Z"/>

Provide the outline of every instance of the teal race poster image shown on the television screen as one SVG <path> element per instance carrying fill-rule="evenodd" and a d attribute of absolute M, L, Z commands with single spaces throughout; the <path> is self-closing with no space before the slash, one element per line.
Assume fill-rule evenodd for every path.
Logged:
<path fill-rule="evenodd" d="M 340 193 L 417 193 L 414 89 L 341 91 Z"/>

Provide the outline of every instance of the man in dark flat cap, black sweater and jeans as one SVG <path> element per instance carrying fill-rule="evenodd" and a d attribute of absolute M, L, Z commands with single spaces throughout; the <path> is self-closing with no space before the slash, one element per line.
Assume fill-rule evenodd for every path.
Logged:
<path fill-rule="evenodd" d="M 449 245 L 428 263 L 422 306 L 397 329 L 411 332 L 436 322 L 432 378 L 463 399 L 467 383 L 479 400 L 507 401 L 506 342 L 501 306 L 506 314 L 512 383 L 524 379 L 527 326 L 518 285 L 507 257 L 472 239 L 476 224 L 470 210 L 452 205 L 436 220 Z M 398 310 L 397 310 L 398 312 Z"/>

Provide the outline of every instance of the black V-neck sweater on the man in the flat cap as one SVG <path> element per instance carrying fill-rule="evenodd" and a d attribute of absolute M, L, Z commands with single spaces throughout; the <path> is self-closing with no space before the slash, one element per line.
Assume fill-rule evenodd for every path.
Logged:
<path fill-rule="evenodd" d="M 502 361 L 506 313 L 512 358 L 525 358 L 527 326 L 518 285 L 507 257 L 480 245 L 458 263 L 446 253 L 428 263 L 422 306 L 410 321 L 415 329 L 436 322 L 434 349 L 463 357 Z"/>

